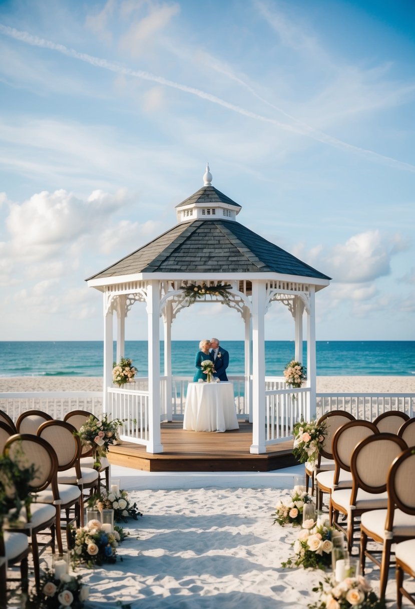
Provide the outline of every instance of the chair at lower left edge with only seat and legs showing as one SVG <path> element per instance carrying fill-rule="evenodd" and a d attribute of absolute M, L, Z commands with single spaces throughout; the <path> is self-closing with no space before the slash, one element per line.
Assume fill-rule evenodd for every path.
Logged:
<path fill-rule="evenodd" d="M 0 608 L 6 609 L 7 582 L 19 581 L 23 593 L 29 588 L 29 569 L 27 557 L 29 555 L 29 539 L 24 533 L 15 533 L 9 530 L 0 532 Z M 7 577 L 7 570 L 20 563 L 20 577 Z"/>

